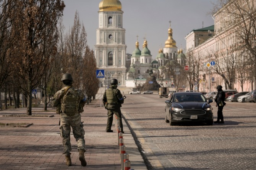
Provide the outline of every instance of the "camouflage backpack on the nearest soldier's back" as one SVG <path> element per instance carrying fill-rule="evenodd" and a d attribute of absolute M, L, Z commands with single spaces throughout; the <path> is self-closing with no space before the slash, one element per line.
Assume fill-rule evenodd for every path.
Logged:
<path fill-rule="evenodd" d="M 68 87 L 64 91 L 61 103 L 61 110 L 68 116 L 73 116 L 79 109 L 79 95 L 78 90 Z"/>

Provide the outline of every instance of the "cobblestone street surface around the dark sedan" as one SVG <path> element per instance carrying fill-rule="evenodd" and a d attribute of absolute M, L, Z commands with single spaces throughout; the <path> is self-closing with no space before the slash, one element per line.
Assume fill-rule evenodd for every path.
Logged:
<path fill-rule="evenodd" d="M 227 102 L 224 124 L 170 126 L 164 118 L 167 98 L 126 97 L 122 113 L 149 170 L 256 169 L 256 103 Z"/>

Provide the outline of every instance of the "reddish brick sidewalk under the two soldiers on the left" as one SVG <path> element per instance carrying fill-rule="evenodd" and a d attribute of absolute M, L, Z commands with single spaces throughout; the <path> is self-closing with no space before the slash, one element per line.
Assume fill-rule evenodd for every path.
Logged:
<path fill-rule="evenodd" d="M 117 133 L 106 133 L 107 111 L 99 101 L 92 101 L 84 106 L 84 121 L 87 166 L 82 167 L 78 159 L 76 141 L 71 133 L 72 166 L 65 164 L 62 155 L 62 138 L 59 131 L 59 116 L 49 107 L 50 112 L 42 107 L 33 107 L 32 115 L 40 117 L 9 117 L 3 115 L 24 115 L 26 108 L 0 111 L 0 123 L 33 123 L 24 127 L 0 127 L 0 169 L 6 170 L 52 170 L 52 169 L 87 169 L 87 170 L 120 170 L 119 146 Z M 53 117 L 47 117 L 54 115 Z M 45 116 L 45 117 L 43 117 Z M 125 121 L 123 120 L 124 143 L 126 153 L 131 160 L 131 168 L 146 170 L 146 165 L 138 151 Z M 112 130 L 115 132 L 115 125 Z M 132 162 L 133 161 L 133 162 Z"/>

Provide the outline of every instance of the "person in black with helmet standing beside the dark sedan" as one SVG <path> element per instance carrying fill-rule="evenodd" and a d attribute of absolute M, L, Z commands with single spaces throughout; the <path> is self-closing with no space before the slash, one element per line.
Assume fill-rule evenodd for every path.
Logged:
<path fill-rule="evenodd" d="M 215 121 L 214 123 L 224 123 L 224 117 L 223 117 L 223 107 L 226 105 L 225 103 L 225 92 L 222 90 L 222 86 L 218 85 L 217 87 L 217 95 L 215 98 L 215 102 L 216 102 L 216 107 L 218 107 L 218 112 L 217 112 L 217 121 Z"/>

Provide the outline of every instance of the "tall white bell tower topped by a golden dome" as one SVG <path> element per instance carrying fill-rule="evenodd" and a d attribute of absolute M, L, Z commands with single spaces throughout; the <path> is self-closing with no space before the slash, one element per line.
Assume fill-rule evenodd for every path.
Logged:
<path fill-rule="evenodd" d="M 104 85 L 111 79 L 125 87 L 126 45 L 122 4 L 119 0 L 99 3 L 99 28 L 96 30 L 95 56 L 97 67 L 105 70 Z"/>

